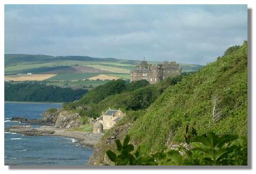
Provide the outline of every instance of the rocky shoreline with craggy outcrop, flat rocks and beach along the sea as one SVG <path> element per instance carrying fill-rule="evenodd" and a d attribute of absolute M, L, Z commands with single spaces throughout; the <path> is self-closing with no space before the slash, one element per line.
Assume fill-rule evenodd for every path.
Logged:
<path fill-rule="evenodd" d="M 27 136 L 65 136 L 76 139 L 79 144 L 93 147 L 98 143 L 103 133 L 94 134 L 91 132 L 71 131 L 70 128 L 81 125 L 80 118 L 77 113 L 52 108 L 43 113 L 42 119 L 27 119 L 19 116 L 10 119 L 10 121 L 17 121 L 19 123 L 42 125 L 41 127 L 14 125 L 6 127 L 4 131 Z"/>

